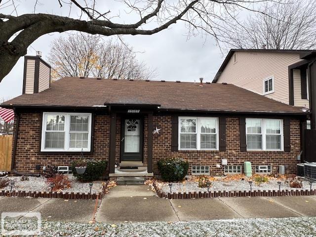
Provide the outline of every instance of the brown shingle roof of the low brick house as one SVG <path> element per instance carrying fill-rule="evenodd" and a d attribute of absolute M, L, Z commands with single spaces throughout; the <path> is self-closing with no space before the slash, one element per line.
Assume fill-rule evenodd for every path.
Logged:
<path fill-rule="evenodd" d="M 39 94 L 23 94 L 2 105 L 93 107 L 104 104 L 158 104 L 160 109 L 303 113 L 232 84 L 129 81 L 66 77 Z"/>

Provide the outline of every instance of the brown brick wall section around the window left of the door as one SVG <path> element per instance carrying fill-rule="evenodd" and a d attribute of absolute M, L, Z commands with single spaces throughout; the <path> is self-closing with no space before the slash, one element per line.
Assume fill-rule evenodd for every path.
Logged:
<path fill-rule="evenodd" d="M 20 126 L 16 147 L 14 169 L 22 172 L 38 172 L 37 164 L 41 166 L 71 165 L 79 155 L 41 155 L 40 154 L 40 131 L 41 114 L 25 113 L 20 115 Z M 95 116 L 94 125 L 94 153 L 85 155 L 85 158 L 109 158 L 110 141 L 110 117 Z"/>

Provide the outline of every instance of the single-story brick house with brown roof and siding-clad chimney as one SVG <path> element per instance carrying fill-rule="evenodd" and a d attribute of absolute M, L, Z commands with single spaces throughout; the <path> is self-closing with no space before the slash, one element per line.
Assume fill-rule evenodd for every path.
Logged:
<path fill-rule="evenodd" d="M 26 56 L 23 94 L 1 104 L 16 114 L 17 171 L 71 165 L 82 149 L 84 158 L 109 160 L 110 176 L 158 174 L 161 158 L 187 159 L 189 174 L 243 172 L 244 161 L 253 172 L 278 165 L 296 172 L 308 116 L 301 107 L 232 84 L 74 77 L 50 84 L 49 70 Z"/>

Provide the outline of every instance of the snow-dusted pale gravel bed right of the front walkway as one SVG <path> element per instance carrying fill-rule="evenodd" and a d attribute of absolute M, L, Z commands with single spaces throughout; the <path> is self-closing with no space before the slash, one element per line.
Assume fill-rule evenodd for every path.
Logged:
<path fill-rule="evenodd" d="M 281 181 L 281 190 L 296 190 L 297 188 L 291 188 L 288 183 L 285 183 L 285 180 L 270 179 L 268 183 L 262 183 L 259 186 L 252 183 L 252 190 L 278 190 L 277 181 Z M 310 189 L 310 184 L 308 181 L 303 181 L 304 190 Z M 165 193 L 170 193 L 169 183 L 158 182 L 158 187 Z M 316 188 L 316 184 L 312 186 Z M 187 193 L 187 192 L 207 192 L 207 188 L 199 188 L 196 181 L 185 181 L 182 183 L 172 183 L 172 193 Z M 212 185 L 209 188 L 209 191 L 249 191 L 250 185 L 248 179 L 245 180 L 232 180 L 232 181 L 221 181 L 221 178 L 218 178 L 216 181 L 212 181 Z"/>

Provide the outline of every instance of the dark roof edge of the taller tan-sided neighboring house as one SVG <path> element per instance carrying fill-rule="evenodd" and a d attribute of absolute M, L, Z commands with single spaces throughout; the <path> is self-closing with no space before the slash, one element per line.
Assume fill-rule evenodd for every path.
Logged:
<path fill-rule="evenodd" d="M 230 59 L 232 58 L 232 56 L 234 55 L 235 52 L 262 52 L 262 53 L 298 53 L 301 56 L 310 54 L 315 52 L 315 50 L 301 50 L 301 49 L 242 49 L 242 48 L 233 48 L 231 49 L 226 58 L 224 59 L 221 67 L 219 68 L 219 70 L 217 71 L 212 83 L 216 83 L 218 78 L 221 76 L 222 72 L 224 71 L 224 69 L 226 68 L 228 62 L 230 61 Z"/>

